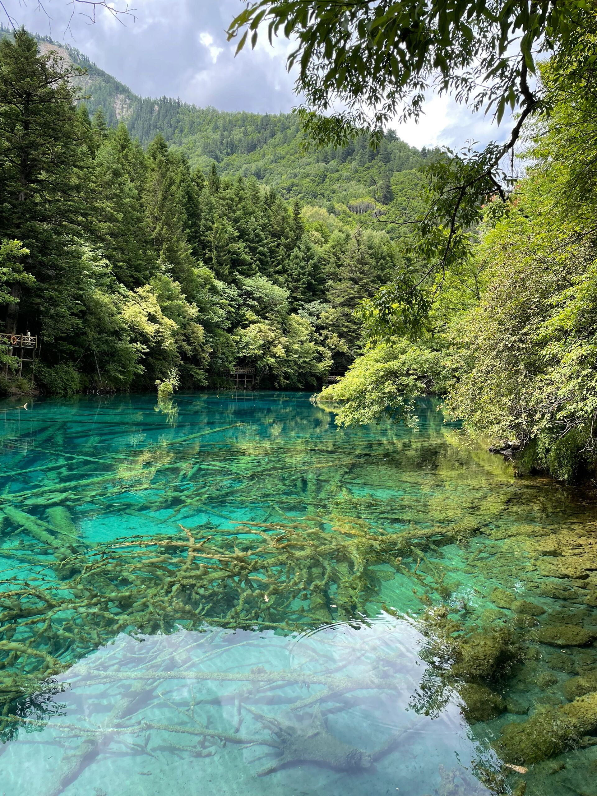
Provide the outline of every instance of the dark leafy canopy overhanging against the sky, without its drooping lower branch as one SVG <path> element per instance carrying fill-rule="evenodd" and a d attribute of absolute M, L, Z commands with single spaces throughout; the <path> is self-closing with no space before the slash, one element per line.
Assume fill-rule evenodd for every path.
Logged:
<path fill-rule="evenodd" d="M 537 52 L 568 41 L 586 11 L 583 0 L 256 0 L 232 21 L 228 40 L 240 37 L 238 52 L 251 32 L 255 47 L 262 24 L 270 41 L 290 38 L 287 65 L 298 67 L 302 119 L 314 139 L 344 142 L 365 127 L 378 142 L 396 114 L 418 117 L 431 83 L 476 109 L 493 108 L 499 122 L 505 107 L 527 100 Z M 346 110 L 327 115 L 338 98 Z"/>

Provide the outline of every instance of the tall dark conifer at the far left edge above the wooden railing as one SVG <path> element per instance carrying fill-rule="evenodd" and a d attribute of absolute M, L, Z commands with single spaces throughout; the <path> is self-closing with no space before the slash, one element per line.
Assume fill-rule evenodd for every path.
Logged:
<path fill-rule="evenodd" d="M 94 213 L 87 131 L 69 80 L 79 74 L 51 52 L 39 55 L 24 29 L 0 41 L 0 238 L 29 250 L 23 265 L 37 280 L 22 296 L 14 285 L 10 332 L 21 310 L 37 318 L 37 333 L 53 338 L 76 304 L 76 239 Z"/>

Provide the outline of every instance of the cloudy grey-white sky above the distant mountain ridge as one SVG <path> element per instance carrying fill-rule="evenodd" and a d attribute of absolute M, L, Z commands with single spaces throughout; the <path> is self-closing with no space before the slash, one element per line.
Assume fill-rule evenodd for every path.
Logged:
<path fill-rule="evenodd" d="M 113 5 L 123 8 L 125 2 L 113 0 Z M 258 113 L 290 111 L 297 103 L 294 76 L 285 67 L 290 46 L 286 40 L 272 48 L 266 39 L 256 50 L 248 48 L 234 57 L 234 45 L 228 44 L 224 30 L 243 8 L 241 0 L 131 0 L 135 18 L 123 18 L 126 26 L 105 10 L 98 10 L 95 25 L 90 25 L 80 14 L 84 6 L 77 6 L 67 33 L 72 0 L 3 4 L 17 24 L 76 46 L 142 96 L 179 97 L 221 111 Z M 434 97 L 419 124 L 395 129 L 412 146 L 459 148 L 468 139 L 500 140 L 508 125 L 492 128 L 483 115 L 470 115 L 451 100 Z"/>

